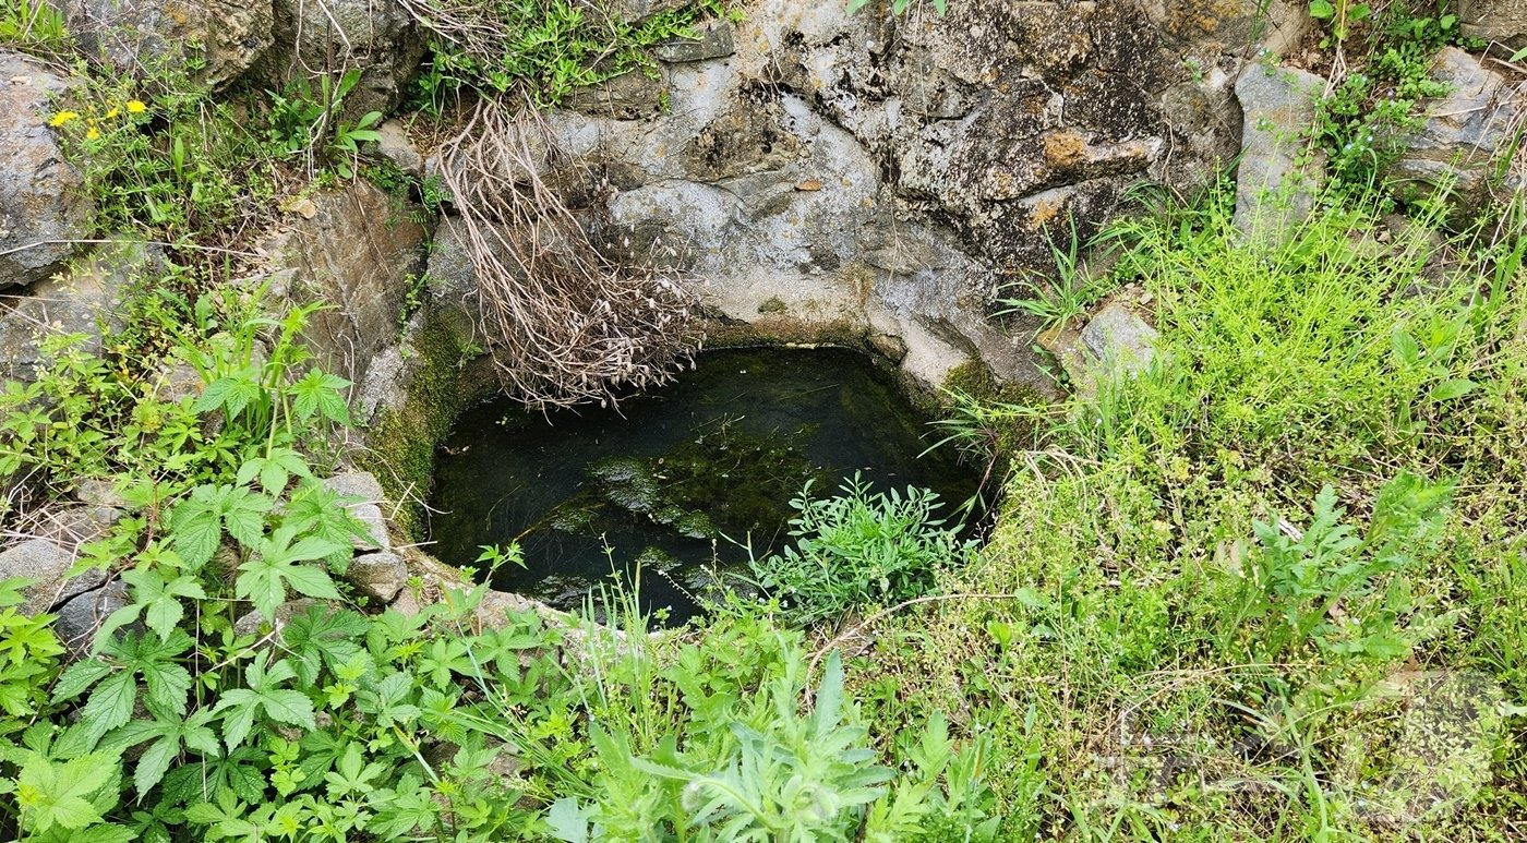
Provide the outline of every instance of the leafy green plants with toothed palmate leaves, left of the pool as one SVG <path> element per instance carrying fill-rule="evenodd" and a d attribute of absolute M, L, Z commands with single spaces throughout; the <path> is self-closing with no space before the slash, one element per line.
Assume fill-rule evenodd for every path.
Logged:
<path fill-rule="evenodd" d="M 554 661 L 521 654 L 556 637 L 534 615 L 469 635 L 473 594 L 412 619 L 344 608 L 334 574 L 370 536 L 315 480 L 322 429 L 350 420 L 348 383 L 305 365 L 310 310 L 266 316 L 226 290 L 142 312 L 166 319 L 130 330 L 171 338 L 163 357 L 194 367 L 200 394 L 160 400 L 140 374 L 151 360 L 75 342 L 6 391 L 24 409 L 3 434 L 14 480 L 47 498 L 104 475 L 130 513 L 78 565 L 118 573 L 128 602 L 61 675 L 52 619 L 15 612 L 23 583 L 0 588 L 0 828 L 38 841 L 533 828 L 522 788 L 486 773 L 495 718 L 463 689 L 487 712 L 539 709 Z M 276 629 L 289 597 L 321 602 Z"/>

